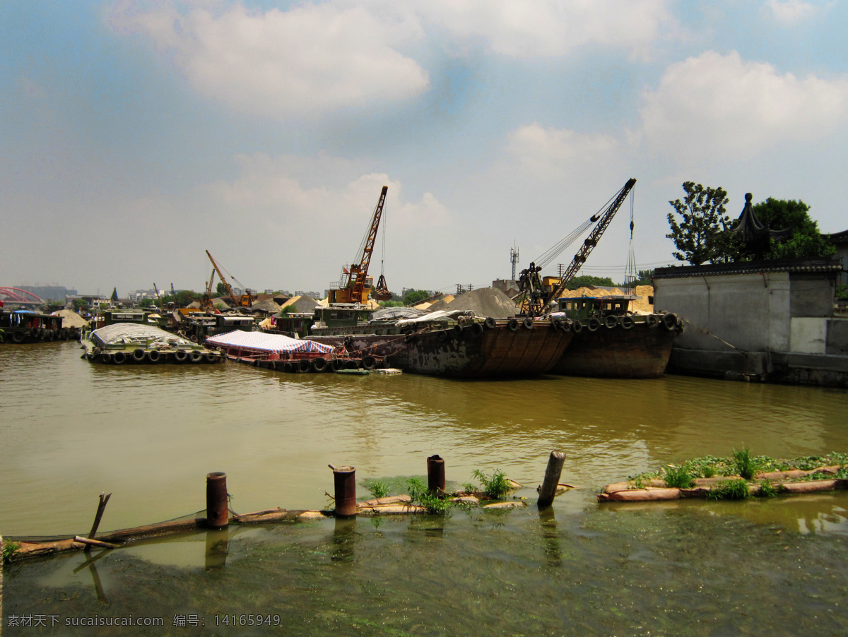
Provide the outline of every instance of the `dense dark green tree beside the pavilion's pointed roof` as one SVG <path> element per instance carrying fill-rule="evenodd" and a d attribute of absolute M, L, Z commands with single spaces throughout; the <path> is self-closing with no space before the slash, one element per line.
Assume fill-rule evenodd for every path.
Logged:
<path fill-rule="evenodd" d="M 772 230 L 783 230 L 792 226 L 792 235 L 784 241 L 772 241 L 771 248 L 763 255 L 775 258 L 829 257 L 836 246 L 818 231 L 818 224 L 810 218 L 810 207 L 800 199 L 773 199 L 756 203 L 752 207 L 756 218 Z"/>

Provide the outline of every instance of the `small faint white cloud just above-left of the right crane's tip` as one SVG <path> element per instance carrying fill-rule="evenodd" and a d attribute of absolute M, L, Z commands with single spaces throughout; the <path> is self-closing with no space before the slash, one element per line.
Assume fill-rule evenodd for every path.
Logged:
<path fill-rule="evenodd" d="M 531 124 L 509 133 L 506 151 L 538 177 L 562 180 L 576 172 L 609 167 L 616 162 L 620 147 L 611 136 Z"/>

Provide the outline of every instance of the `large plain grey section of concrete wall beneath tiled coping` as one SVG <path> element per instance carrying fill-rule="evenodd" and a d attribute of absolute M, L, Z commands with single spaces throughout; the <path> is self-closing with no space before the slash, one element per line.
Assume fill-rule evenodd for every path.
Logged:
<path fill-rule="evenodd" d="M 656 279 L 654 287 L 655 309 L 688 321 L 675 348 L 732 351 L 714 335 L 748 352 L 789 351 L 786 272 Z"/>

